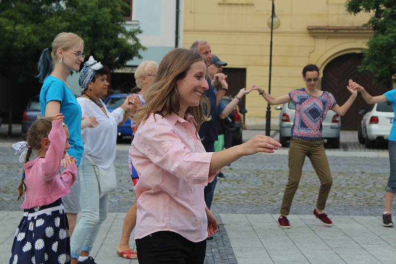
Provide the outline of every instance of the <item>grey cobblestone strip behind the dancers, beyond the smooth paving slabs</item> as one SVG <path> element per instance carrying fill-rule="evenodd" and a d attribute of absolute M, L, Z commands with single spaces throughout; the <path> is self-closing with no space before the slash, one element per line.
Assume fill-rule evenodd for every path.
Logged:
<path fill-rule="evenodd" d="M 22 166 L 13 150 L 0 148 L 0 208 L 19 210 L 16 202 Z M 127 151 L 118 150 L 115 167 L 118 188 L 111 193 L 110 211 L 125 212 L 134 201 L 127 166 Z M 288 175 L 288 156 L 256 154 L 226 167 L 219 179 L 213 209 L 218 213 L 276 213 Z M 389 174 L 388 158 L 329 157 L 334 185 L 328 199 L 331 214 L 376 214 L 383 204 Z M 307 213 L 315 206 L 319 179 L 308 161 L 293 202 L 292 213 Z M 349 212 L 349 213 L 348 213 Z"/>

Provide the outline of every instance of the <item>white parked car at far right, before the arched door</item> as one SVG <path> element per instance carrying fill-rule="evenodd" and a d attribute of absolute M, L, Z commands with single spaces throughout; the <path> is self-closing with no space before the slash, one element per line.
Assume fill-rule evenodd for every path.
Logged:
<path fill-rule="evenodd" d="M 373 148 L 377 142 L 389 139 L 395 120 L 392 103 L 376 103 L 367 113 L 364 110 L 359 113 L 364 114 L 357 134 L 360 143 L 365 143 L 367 148 Z"/>

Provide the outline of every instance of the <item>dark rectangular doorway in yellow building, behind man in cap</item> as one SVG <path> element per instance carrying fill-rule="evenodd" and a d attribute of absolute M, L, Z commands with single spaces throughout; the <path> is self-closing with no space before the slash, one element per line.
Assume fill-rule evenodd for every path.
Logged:
<path fill-rule="evenodd" d="M 227 75 L 228 91 L 225 95 L 235 96 L 240 89 L 246 86 L 246 69 L 245 68 L 223 68 L 223 73 Z M 220 88 L 219 86 L 216 88 Z M 246 96 L 238 103 L 239 109 L 245 109 Z"/>

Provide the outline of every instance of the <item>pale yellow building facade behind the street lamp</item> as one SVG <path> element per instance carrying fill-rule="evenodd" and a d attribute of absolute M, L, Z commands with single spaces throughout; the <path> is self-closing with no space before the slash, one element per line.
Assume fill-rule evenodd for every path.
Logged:
<path fill-rule="evenodd" d="M 362 28 L 370 15 L 349 15 L 346 0 L 275 0 L 275 12 L 281 25 L 273 32 L 274 96 L 304 87 L 306 64 L 318 65 L 322 76 L 335 58 L 361 53 L 373 34 Z M 270 16 L 270 0 L 185 0 L 183 45 L 207 41 L 227 67 L 246 68 L 246 87 L 256 84 L 268 91 Z M 264 126 L 266 105 L 256 91 L 247 95 L 247 128 Z M 275 121 L 279 111 L 271 111 Z"/>

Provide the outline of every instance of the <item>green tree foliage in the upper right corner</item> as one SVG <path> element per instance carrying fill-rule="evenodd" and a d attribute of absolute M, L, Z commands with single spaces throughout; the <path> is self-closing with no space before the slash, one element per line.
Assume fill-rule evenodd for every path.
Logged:
<path fill-rule="evenodd" d="M 347 11 L 372 13 L 363 26 L 374 30 L 374 35 L 363 50 L 359 70 L 369 70 L 376 83 L 396 81 L 396 1 L 395 0 L 348 0 Z"/>

